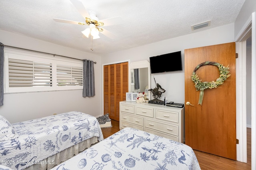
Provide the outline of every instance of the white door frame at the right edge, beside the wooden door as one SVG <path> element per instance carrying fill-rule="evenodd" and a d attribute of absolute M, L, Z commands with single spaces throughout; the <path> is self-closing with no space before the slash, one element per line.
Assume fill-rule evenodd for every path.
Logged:
<path fill-rule="evenodd" d="M 256 12 L 248 18 L 244 26 L 242 27 L 240 33 L 235 37 L 236 47 L 238 50 L 238 62 L 237 62 L 237 121 L 236 121 L 236 132 L 237 138 L 240 139 L 237 145 L 237 160 L 241 162 L 247 162 L 247 132 L 246 132 L 246 79 L 244 75 L 246 74 L 246 39 L 248 36 L 252 35 L 252 85 L 256 84 Z M 256 88 L 252 86 L 252 169 L 256 168 Z"/>

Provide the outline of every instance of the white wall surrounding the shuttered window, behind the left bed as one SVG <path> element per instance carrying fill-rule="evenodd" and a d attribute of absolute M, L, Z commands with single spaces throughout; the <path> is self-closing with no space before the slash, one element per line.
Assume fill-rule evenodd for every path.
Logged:
<path fill-rule="evenodd" d="M 0 115 L 6 117 L 10 123 L 68 111 L 81 111 L 93 116 L 101 115 L 102 65 L 100 56 L 3 30 L 0 30 L 0 42 L 4 45 L 79 59 L 89 59 L 97 62 L 97 64 L 94 64 L 96 94 L 94 97 L 83 98 L 82 90 L 4 94 L 4 106 L 0 106 Z M 4 48 L 10 49 L 6 47 Z M 29 53 L 27 51 L 22 52 Z M 48 55 L 48 57 L 51 56 Z"/>

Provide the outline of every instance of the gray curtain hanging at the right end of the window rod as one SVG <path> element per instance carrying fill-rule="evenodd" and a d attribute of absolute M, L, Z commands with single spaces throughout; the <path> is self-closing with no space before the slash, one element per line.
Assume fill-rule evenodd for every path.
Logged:
<path fill-rule="evenodd" d="M 83 97 L 95 96 L 94 87 L 94 62 L 83 60 L 84 62 L 84 88 Z"/>

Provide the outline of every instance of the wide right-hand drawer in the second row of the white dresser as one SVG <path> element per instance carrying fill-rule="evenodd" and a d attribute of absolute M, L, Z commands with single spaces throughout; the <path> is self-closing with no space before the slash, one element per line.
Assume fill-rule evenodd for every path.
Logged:
<path fill-rule="evenodd" d="M 155 129 L 157 131 L 162 131 L 164 133 L 169 133 L 171 135 L 178 136 L 179 126 L 172 125 L 170 123 L 157 122 L 150 119 L 145 119 L 145 127 L 150 129 Z"/>

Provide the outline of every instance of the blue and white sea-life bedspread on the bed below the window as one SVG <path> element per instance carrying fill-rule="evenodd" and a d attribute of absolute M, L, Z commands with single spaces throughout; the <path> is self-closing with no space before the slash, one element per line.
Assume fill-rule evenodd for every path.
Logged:
<path fill-rule="evenodd" d="M 78 111 L 14 123 L 12 127 L 19 137 L 0 142 L 0 164 L 16 170 L 92 137 L 103 140 L 96 117 Z"/>

